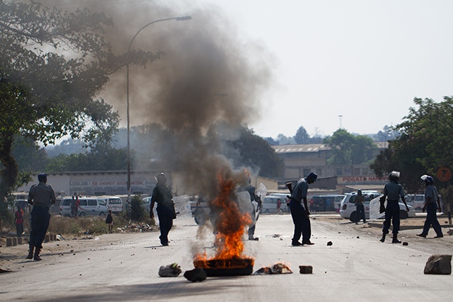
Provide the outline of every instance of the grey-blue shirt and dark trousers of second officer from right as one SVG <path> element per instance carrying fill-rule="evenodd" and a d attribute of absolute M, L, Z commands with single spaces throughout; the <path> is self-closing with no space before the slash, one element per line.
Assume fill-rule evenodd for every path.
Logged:
<path fill-rule="evenodd" d="M 400 219 L 399 219 L 399 204 L 400 197 L 404 197 L 403 186 L 398 182 L 387 182 L 384 186 L 384 195 L 387 196 L 387 207 L 385 208 L 385 221 L 382 233 L 388 234 L 390 222 L 393 224 L 392 233 L 398 234 Z"/>

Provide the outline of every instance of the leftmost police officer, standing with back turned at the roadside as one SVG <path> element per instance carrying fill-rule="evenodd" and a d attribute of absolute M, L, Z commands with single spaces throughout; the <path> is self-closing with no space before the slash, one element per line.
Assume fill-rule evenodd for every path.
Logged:
<path fill-rule="evenodd" d="M 38 185 L 30 187 L 28 193 L 28 204 L 33 205 L 31 211 L 31 231 L 30 241 L 28 243 L 28 256 L 26 259 L 36 261 L 42 260 L 40 251 L 42 249 L 42 241 L 44 241 L 45 233 L 49 227 L 50 214 L 49 207 L 55 204 L 55 192 L 47 183 L 47 174 L 38 175 Z M 34 251 L 34 255 L 33 255 Z"/>

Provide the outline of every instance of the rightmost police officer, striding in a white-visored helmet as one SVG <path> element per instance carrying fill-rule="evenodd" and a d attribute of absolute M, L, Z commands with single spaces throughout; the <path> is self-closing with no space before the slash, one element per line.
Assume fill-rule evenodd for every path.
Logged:
<path fill-rule="evenodd" d="M 421 179 L 425 182 L 425 204 L 423 205 L 422 211 L 426 211 L 426 220 L 423 226 L 423 231 L 417 236 L 426 238 L 428 236 L 428 231 L 430 227 L 434 228 L 436 232 L 435 238 L 442 238 L 444 234 L 442 233 L 442 228 L 440 223 L 437 220 L 436 211 L 439 209 L 439 212 L 442 211 L 440 207 L 440 197 L 437 192 L 437 188 L 434 185 L 434 179 L 431 176 L 423 175 Z"/>

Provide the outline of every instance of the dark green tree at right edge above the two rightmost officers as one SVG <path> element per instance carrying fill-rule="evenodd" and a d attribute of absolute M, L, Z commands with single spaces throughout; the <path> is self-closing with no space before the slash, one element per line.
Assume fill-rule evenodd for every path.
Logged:
<path fill-rule="evenodd" d="M 421 175 L 433 175 L 442 166 L 452 168 L 453 162 L 453 98 L 445 96 L 441 103 L 429 98 L 413 101 L 418 109 L 409 108 L 403 122 L 392 127 L 401 135 L 372 164 L 377 175 L 399 170 L 408 192 L 422 188 Z"/>

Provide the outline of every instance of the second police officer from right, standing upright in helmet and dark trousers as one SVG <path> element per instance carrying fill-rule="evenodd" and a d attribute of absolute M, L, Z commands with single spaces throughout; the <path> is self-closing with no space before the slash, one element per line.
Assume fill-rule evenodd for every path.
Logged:
<path fill-rule="evenodd" d="M 385 208 L 385 221 L 384 228 L 382 228 L 382 238 L 379 240 L 381 242 L 385 241 L 385 236 L 389 233 L 390 223 L 393 224 L 392 233 L 394 234 L 393 240 L 391 243 L 401 243 L 398 240 L 398 231 L 399 231 L 399 199 L 403 200 L 406 205 L 406 211 L 409 211 L 408 204 L 406 204 L 406 199 L 404 199 L 404 190 L 403 186 L 398 183 L 399 172 L 392 171 L 389 174 L 390 182 L 387 182 L 384 185 L 384 196 L 383 200 L 387 199 L 387 206 Z"/>

